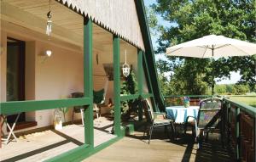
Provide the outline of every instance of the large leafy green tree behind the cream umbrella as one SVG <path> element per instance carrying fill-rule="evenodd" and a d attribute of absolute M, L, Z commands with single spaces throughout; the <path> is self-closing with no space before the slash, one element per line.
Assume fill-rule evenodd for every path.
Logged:
<path fill-rule="evenodd" d="M 256 5 L 254 1 L 157 0 L 156 2 L 151 8 L 154 9 L 155 14 L 160 14 L 170 24 L 168 26 L 155 25 L 157 23 L 154 20 L 154 24 L 151 25 L 151 27 L 160 31 L 159 47 L 156 49 L 156 53 L 165 53 L 166 47 L 170 45 L 210 34 L 224 35 L 249 42 L 256 41 Z M 154 16 L 151 15 L 150 17 Z M 230 77 L 230 71 L 235 70 L 240 71 L 242 75 L 241 82 L 247 82 L 251 89 L 255 90 L 255 56 L 254 58 L 253 56 L 222 58 L 213 62 L 210 59 L 173 59 L 170 57 L 168 59 L 173 71 L 181 67 L 183 70 L 187 70 L 180 73 L 178 77 L 188 78 L 186 74 L 193 71 L 191 77 L 194 77 L 194 79 L 184 81 L 187 85 L 189 85 L 189 81 L 194 81 L 198 75 L 201 75 L 201 83 L 207 83 L 213 90 L 214 78 L 221 80 L 224 77 Z M 179 60 L 177 63 L 180 65 L 177 65 L 177 60 Z M 194 65 L 191 66 L 191 64 Z M 195 70 L 199 71 L 195 72 Z"/>

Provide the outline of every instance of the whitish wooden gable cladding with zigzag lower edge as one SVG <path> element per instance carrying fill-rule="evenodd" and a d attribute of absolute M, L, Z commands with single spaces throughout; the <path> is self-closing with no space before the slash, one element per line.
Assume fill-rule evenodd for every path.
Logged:
<path fill-rule="evenodd" d="M 145 50 L 134 0 L 56 0 Z"/>

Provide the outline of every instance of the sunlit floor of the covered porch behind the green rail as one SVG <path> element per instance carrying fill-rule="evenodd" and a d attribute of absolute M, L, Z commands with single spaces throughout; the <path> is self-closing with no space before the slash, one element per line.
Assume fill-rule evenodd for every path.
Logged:
<path fill-rule="evenodd" d="M 95 120 L 95 147 L 115 137 L 111 131 L 113 121 L 102 117 Z M 84 144 L 84 127 L 67 125 L 61 131 L 49 129 L 18 137 L 18 142 L 9 142 L 0 148 L 0 161 L 44 161 Z"/>

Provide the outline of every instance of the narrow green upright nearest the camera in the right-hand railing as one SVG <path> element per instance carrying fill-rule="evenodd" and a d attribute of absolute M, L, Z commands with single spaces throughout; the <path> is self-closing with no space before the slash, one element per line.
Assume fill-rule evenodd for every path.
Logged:
<path fill-rule="evenodd" d="M 240 108 L 236 107 L 236 159 L 240 160 L 241 137 L 240 137 Z"/>

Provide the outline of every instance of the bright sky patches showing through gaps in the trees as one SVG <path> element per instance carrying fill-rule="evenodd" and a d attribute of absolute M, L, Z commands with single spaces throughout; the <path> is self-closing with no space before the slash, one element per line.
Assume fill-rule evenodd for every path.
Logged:
<path fill-rule="evenodd" d="M 144 0 L 145 6 L 149 8 L 149 6 L 153 3 L 156 3 L 155 0 Z M 157 15 L 158 23 L 162 25 L 168 25 L 169 23 L 163 20 L 160 15 Z M 153 47 L 157 47 L 158 43 L 156 42 L 158 38 L 158 34 L 156 36 L 151 36 Z M 165 54 L 157 54 L 155 55 L 155 59 L 166 59 Z M 239 75 L 238 72 L 230 72 L 230 79 L 224 79 L 222 81 L 218 81 L 217 84 L 234 84 L 237 81 L 239 81 L 241 78 L 241 75 Z"/>

